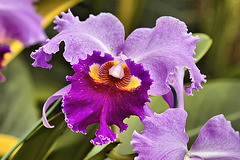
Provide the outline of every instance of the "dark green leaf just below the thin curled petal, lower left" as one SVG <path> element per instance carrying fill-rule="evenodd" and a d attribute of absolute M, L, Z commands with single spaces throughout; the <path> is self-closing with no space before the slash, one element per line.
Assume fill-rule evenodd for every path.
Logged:
<path fill-rule="evenodd" d="M 41 125 L 32 135 L 30 135 L 18 152 L 14 155 L 13 160 L 42 160 L 48 155 L 48 152 L 54 142 L 66 130 L 66 122 L 62 113 L 55 116 L 51 121 L 55 126 L 53 129 Z"/>

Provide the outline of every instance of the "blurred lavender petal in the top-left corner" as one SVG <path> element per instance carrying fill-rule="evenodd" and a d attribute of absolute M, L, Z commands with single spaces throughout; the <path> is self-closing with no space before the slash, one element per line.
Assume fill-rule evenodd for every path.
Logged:
<path fill-rule="evenodd" d="M 29 46 L 46 40 L 33 0 L 1 0 L 0 5 L 0 42 L 17 39 Z"/>

